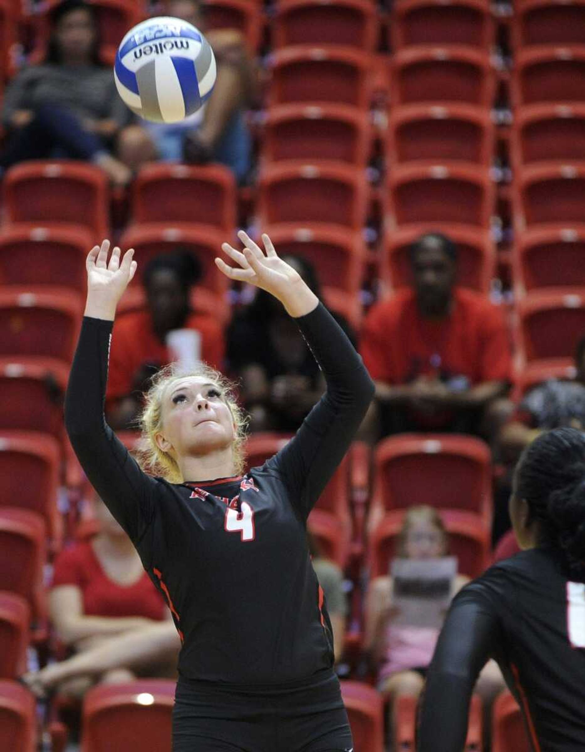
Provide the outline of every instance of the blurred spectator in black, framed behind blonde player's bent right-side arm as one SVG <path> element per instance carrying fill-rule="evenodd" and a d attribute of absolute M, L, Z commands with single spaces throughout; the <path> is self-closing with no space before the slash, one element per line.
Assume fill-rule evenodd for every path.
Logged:
<path fill-rule="evenodd" d="M 283 256 L 322 298 L 313 266 Z M 355 345 L 350 325 L 332 314 Z M 250 305 L 232 320 L 227 334 L 229 370 L 241 379 L 241 396 L 250 413 L 250 431 L 293 432 L 325 390 L 325 379 L 295 320 L 273 296 L 258 290 Z"/>

